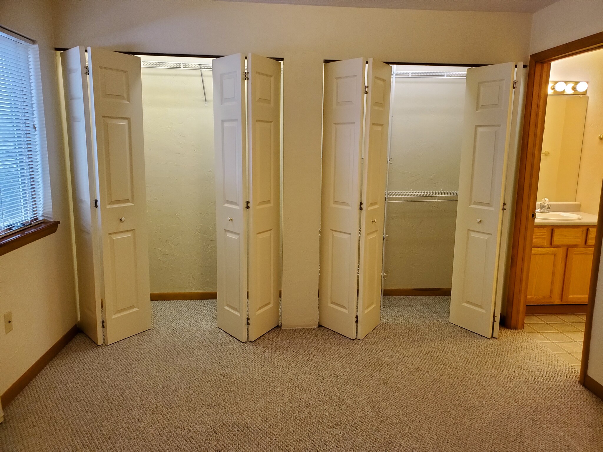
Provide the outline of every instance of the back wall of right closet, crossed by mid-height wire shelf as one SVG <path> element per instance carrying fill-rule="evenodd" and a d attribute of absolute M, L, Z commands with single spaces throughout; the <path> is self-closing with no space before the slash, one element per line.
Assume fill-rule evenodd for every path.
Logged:
<path fill-rule="evenodd" d="M 458 190 L 464 99 L 464 78 L 396 78 L 388 190 Z M 455 224 L 456 202 L 389 202 L 385 287 L 450 287 Z"/>

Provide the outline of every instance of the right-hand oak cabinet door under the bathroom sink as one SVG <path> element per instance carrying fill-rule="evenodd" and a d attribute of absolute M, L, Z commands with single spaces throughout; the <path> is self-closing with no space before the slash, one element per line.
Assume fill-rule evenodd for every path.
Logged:
<path fill-rule="evenodd" d="M 588 303 L 594 248 L 569 248 L 563 283 L 563 303 Z"/>

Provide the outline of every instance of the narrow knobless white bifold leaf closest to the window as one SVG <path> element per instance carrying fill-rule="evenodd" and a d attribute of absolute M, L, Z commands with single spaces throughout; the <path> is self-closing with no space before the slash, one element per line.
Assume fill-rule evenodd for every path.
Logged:
<path fill-rule="evenodd" d="M 71 181 L 73 190 L 75 256 L 77 258 L 78 327 L 87 336 L 103 344 L 101 320 L 101 262 L 98 237 L 98 217 L 94 207 L 96 166 L 90 130 L 88 80 L 84 73 L 85 50 L 74 47 L 61 54 L 63 89 Z"/>

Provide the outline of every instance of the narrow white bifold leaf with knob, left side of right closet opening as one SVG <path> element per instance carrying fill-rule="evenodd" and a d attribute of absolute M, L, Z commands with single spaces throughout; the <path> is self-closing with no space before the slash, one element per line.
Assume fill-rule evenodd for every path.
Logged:
<path fill-rule="evenodd" d="M 391 66 L 369 58 L 367 81 L 362 163 L 358 339 L 362 339 L 379 325 L 381 316 Z"/>

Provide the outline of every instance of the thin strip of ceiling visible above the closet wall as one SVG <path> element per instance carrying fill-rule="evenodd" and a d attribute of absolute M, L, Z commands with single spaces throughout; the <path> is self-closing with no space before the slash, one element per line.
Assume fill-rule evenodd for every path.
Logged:
<path fill-rule="evenodd" d="M 558 0 L 218 0 L 292 5 L 394 8 L 401 10 L 506 11 L 535 13 Z"/>

